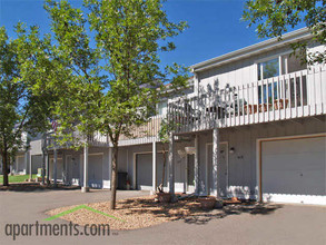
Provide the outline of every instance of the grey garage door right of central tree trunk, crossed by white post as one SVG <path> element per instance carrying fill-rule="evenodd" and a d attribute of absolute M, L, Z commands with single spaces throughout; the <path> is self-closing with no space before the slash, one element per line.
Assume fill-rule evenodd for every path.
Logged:
<path fill-rule="evenodd" d="M 157 154 L 157 185 L 162 182 L 165 174 L 165 185 L 167 186 L 167 166 L 164 171 L 162 154 Z M 137 189 L 150 190 L 152 188 L 152 154 L 136 155 L 136 185 Z"/>

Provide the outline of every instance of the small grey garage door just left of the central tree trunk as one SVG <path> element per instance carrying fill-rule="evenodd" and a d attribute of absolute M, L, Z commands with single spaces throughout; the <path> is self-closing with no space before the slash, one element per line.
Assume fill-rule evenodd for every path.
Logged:
<path fill-rule="evenodd" d="M 88 157 L 88 185 L 91 188 L 102 188 L 102 155 Z"/>

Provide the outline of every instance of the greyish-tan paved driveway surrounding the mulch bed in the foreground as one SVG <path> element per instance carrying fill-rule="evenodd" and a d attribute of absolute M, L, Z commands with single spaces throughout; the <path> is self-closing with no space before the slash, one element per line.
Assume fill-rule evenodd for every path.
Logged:
<path fill-rule="evenodd" d="M 118 198 L 148 195 L 118 192 Z M 109 190 L 0 192 L 0 244 L 326 244 L 326 207 L 275 205 L 261 212 L 228 210 L 224 217 L 178 220 L 110 236 L 6 236 L 6 224 L 43 223 L 60 206 L 108 200 Z M 50 224 L 65 224 L 55 219 Z"/>

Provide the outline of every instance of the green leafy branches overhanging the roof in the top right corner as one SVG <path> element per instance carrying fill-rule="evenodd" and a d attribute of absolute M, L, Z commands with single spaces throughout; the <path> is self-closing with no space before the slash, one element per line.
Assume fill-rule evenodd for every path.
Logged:
<path fill-rule="evenodd" d="M 326 43 L 326 1 L 325 0 L 248 0 L 243 19 L 250 26 L 257 26 L 260 38 L 279 37 L 289 28 L 305 23 L 314 40 Z M 293 45 L 294 51 L 303 61 L 325 62 L 326 50 L 306 53 L 307 42 Z"/>

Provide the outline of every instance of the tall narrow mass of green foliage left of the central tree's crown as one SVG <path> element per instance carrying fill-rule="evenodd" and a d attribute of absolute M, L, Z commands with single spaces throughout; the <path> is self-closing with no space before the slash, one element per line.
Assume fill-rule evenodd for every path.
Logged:
<path fill-rule="evenodd" d="M 101 92 L 107 76 L 100 74 L 99 49 L 90 46 L 87 20 L 68 1 L 46 1 L 55 38 L 51 59 L 60 62 L 53 81 L 59 96 L 53 115 L 60 127 L 57 141 L 80 147 L 98 129 Z"/>

